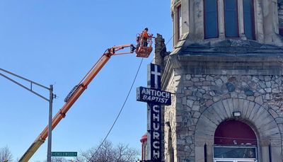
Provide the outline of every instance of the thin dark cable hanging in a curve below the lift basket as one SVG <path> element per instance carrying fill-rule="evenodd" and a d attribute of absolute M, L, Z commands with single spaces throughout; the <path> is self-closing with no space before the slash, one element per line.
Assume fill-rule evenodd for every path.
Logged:
<path fill-rule="evenodd" d="M 134 86 L 134 82 L 135 82 L 136 79 L 137 79 L 137 75 L 139 74 L 139 69 L 141 68 L 141 63 L 142 63 L 143 60 L 144 60 L 144 58 L 142 58 L 142 59 L 141 59 L 141 62 L 139 63 L 139 68 L 137 69 L 137 73 L 136 73 L 136 75 L 134 76 L 134 80 L 132 81 L 132 86 L 131 86 L 131 88 L 129 88 L 129 92 L 128 92 L 128 94 L 127 94 L 127 97 L 126 97 L 126 99 L 125 99 L 123 105 L 122 105 L 122 108 L 120 109 L 120 112 L 117 114 L 117 117 L 116 117 L 115 121 L 113 122 L 112 126 L 110 127 L 108 133 L 106 134 L 105 138 L 103 139 L 103 141 L 101 142 L 101 144 L 98 146 L 98 149 L 96 149 L 96 152 L 94 152 L 94 154 L 93 154 L 93 155 L 91 156 L 91 158 L 88 160 L 88 162 L 91 161 L 91 159 L 93 158 L 93 156 L 96 155 L 96 153 L 98 152 L 98 150 L 99 150 L 100 147 L 103 145 L 103 143 L 104 143 L 105 140 L 107 139 L 108 135 L 109 135 L 110 132 L 112 131 L 112 128 L 113 128 L 114 125 L 116 124 L 118 118 L 120 117 L 120 114 L 121 114 L 122 110 L 124 109 L 125 104 L 127 103 L 127 99 L 129 98 L 129 94 L 130 94 L 131 91 L 132 91 L 132 87 Z"/>

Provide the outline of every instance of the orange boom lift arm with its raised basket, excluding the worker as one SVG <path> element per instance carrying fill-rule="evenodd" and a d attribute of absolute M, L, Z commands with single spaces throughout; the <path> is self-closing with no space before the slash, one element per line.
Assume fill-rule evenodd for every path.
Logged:
<path fill-rule="evenodd" d="M 143 47 L 139 46 L 139 43 L 137 47 L 134 47 L 132 44 L 127 45 L 115 45 L 113 47 L 108 48 L 105 53 L 100 57 L 98 62 L 94 64 L 94 66 L 91 68 L 90 71 L 86 74 L 86 76 L 81 79 L 81 81 L 74 86 L 74 88 L 71 90 L 71 92 L 68 94 L 68 96 L 65 98 L 65 104 L 63 107 L 57 112 L 57 114 L 52 118 L 52 129 L 57 126 L 57 124 L 66 116 L 66 113 L 71 108 L 71 106 L 76 102 L 76 100 L 81 96 L 83 91 L 86 90 L 87 86 L 94 77 L 96 77 L 96 74 L 100 71 L 100 69 L 103 68 L 103 66 L 108 62 L 110 57 L 113 55 L 119 55 L 119 54 L 131 54 L 134 51 L 137 54 L 137 57 L 149 57 L 149 54 L 151 54 L 152 51 L 152 41 L 151 39 L 149 41 L 149 46 Z M 125 48 L 129 47 L 129 52 L 118 52 L 120 50 L 123 50 Z M 48 125 L 43 129 L 43 131 L 40 133 L 40 135 L 35 139 L 33 144 L 30 145 L 27 151 L 25 151 L 25 154 L 20 159 L 20 162 L 27 162 L 33 154 L 35 154 L 35 151 L 45 142 L 45 139 L 48 136 Z"/>

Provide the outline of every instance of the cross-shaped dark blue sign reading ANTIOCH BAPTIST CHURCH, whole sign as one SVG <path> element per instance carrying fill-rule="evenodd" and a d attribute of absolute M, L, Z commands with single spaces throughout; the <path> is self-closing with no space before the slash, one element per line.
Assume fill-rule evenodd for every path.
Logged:
<path fill-rule="evenodd" d="M 162 159 L 161 152 L 161 105 L 171 105 L 171 93 L 161 91 L 161 68 L 157 64 L 148 66 L 148 86 L 137 88 L 137 100 L 147 103 L 147 160 Z"/>

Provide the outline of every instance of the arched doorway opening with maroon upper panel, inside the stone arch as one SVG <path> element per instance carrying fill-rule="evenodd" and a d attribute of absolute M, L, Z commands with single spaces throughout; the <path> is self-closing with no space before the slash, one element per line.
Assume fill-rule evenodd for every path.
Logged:
<path fill-rule="evenodd" d="M 255 162 L 258 141 L 244 122 L 221 122 L 214 134 L 214 162 Z"/>

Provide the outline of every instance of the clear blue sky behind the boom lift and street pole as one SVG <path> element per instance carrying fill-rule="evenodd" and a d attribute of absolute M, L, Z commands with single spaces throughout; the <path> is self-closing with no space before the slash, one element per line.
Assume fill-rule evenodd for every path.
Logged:
<path fill-rule="evenodd" d="M 170 1 L 0 1 L 0 68 L 45 86 L 54 84 L 53 114 L 103 52 L 135 42 L 145 27 L 172 37 Z M 172 42 L 167 49 L 171 50 Z M 134 89 L 108 139 L 141 148 L 146 132 L 146 103 L 136 88 L 146 86 L 144 59 Z M 114 56 L 52 132 L 52 151 L 86 151 L 105 137 L 141 62 L 134 54 Z M 25 82 L 22 82 L 25 83 Z M 27 83 L 25 83 L 28 86 Z M 48 91 L 35 88 L 48 97 Z M 47 125 L 48 103 L 0 78 L 0 147 L 16 161 Z M 44 161 L 47 141 L 30 161 Z"/>

